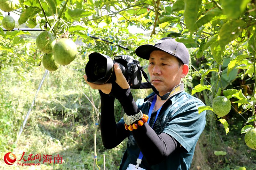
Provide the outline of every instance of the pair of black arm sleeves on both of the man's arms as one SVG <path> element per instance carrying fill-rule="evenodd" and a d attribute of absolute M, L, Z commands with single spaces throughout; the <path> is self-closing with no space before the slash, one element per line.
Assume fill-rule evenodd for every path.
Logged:
<path fill-rule="evenodd" d="M 104 94 L 100 91 L 100 96 L 101 96 L 101 118 L 100 118 L 101 127 L 100 128 L 101 128 L 102 141 L 104 146 L 107 149 L 116 147 L 129 134 L 129 131 L 125 130 L 124 124 L 122 123 L 116 124 L 115 122 L 114 97 L 116 97 L 119 100 L 119 102 L 124 107 L 124 111 L 125 112 L 127 111 L 126 113 L 132 113 L 130 115 L 135 115 L 140 111 L 133 100 L 130 88 L 122 89 L 118 85 L 113 86 L 113 84 L 112 84 L 112 90 L 110 92 L 110 95 Z M 108 114 L 105 113 L 107 112 L 105 109 L 109 112 Z M 133 130 L 132 134 L 137 145 L 140 148 L 140 151 L 143 153 L 143 156 L 145 157 L 145 159 L 150 165 L 155 165 L 162 162 L 172 152 L 180 148 L 179 147 L 180 144 L 172 136 L 166 133 L 161 133 L 157 135 L 156 132 L 148 125 L 148 123 L 145 123 L 143 126 L 139 127 L 136 130 Z"/>

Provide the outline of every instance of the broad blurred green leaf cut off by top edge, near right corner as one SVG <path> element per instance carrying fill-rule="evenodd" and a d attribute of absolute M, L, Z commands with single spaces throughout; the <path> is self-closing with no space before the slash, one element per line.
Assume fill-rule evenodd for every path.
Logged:
<path fill-rule="evenodd" d="M 225 0 L 221 2 L 224 14 L 229 18 L 237 19 L 244 13 L 250 0 Z"/>

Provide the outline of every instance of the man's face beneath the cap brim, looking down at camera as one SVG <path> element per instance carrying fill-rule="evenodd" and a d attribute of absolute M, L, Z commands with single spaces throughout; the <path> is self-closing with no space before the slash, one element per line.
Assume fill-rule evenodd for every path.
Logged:
<path fill-rule="evenodd" d="M 150 81 L 160 95 L 170 92 L 180 84 L 183 65 L 179 68 L 176 57 L 164 51 L 155 50 L 151 52 L 148 61 Z"/>

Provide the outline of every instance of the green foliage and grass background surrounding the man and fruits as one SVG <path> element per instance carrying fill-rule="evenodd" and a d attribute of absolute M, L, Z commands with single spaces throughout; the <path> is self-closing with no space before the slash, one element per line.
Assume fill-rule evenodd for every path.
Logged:
<path fill-rule="evenodd" d="M 27 124 L 18 132 L 45 73 L 42 55 L 36 48 L 40 32 L 4 32 L 0 27 L 0 168 L 3 156 L 12 152 L 21 157 L 41 153 L 63 155 L 63 164 L 42 164 L 36 169 L 97 169 L 94 163 L 96 132 L 97 164 L 117 169 L 126 141 L 106 150 L 100 138 L 97 110 L 99 94 L 85 84 L 84 67 L 88 55 L 100 52 L 111 57 L 134 56 L 147 70 L 147 62 L 134 50 L 154 44 L 162 37 L 174 37 L 189 48 L 190 71 L 184 80 L 186 91 L 208 107 L 207 124 L 197 146 L 191 169 L 255 169 L 255 150 L 244 143 L 244 133 L 255 121 L 255 2 L 252 0 L 20 0 L 13 11 L 20 17 L 19 28 L 36 26 L 51 31 L 56 38 L 66 31 L 78 45 L 79 54 L 67 66 L 48 72 L 35 100 Z M 2 12 L 0 19 L 7 15 Z M 11 12 L 11 16 L 14 15 Z M 144 30 L 136 33 L 134 27 Z M 95 40 L 87 33 L 114 44 Z M 129 48 L 117 47 L 120 44 Z M 212 100 L 221 95 L 232 102 L 230 113 L 217 117 Z M 136 99 L 150 90 L 133 90 Z M 88 98 L 87 98 L 87 97 Z M 116 121 L 124 111 L 115 102 Z M 222 120 L 222 121 L 221 121 Z M 223 122 L 224 121 L 224 122 Z M 222 125 L 224 124 L 224 126 Z M 228 123 L 228 127 L 227 127 Z M 223 128 L 224 127 L 224 128 Z M 229 131 L 229 132 L 228 132 Z M 34 162 L 36 163 L 36 162 Z"/>

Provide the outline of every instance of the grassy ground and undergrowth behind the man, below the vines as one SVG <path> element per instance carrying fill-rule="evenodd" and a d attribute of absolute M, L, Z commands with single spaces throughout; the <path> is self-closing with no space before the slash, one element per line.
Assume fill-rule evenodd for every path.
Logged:
<path fill-rule="evenodd" d="M 84 83 L 84 73 L 72 70 L 79 64 L 83 66 L 83 63 L 76 59 L 74 64 L 61 66 L 46 76 L 16 145 L 14 142 L 44 75 L 44 68 L 41 65 L 30 71 L 17 71 L 16 67 L 10 65 L 1 70 L 0 169 L 93 169 L 93 134 L 95 123 L 99 120 L 85 95 L 93 98 L 96 107 L 99 106 L 100 100 L 98 91 L 89 89 Z M 150 92 L 132 91 L 135 100 L 147 96 Z M 115 111 L 118 113 L 118 121 L 124 114 L 118 101 L 115 102 Z M 191 169 L 256 169 L 256 153 L 245 145 L 244 134 L 240 134 L 239 130 L 244 120 L 239 117 L 234 119 L 237 116 L 232 114 L 229 114 L 231 116 L 228 119 L 230 132 L 226 135 L 222 125 L 214 120 L 213 114 L 207 112 L 207 124 L 196 145 Z M 107 169 L 118 169 L 126 143 L 125 140 L 116 148 L 106 150 L 101 142 L 100 128 L 97 129 L 97 163 L 101 169 L 104 163 L 103 155 Z M 214 151 L 225 151 L 227 155 L 216 156 Z M 21 158 L 23 152 L 26 159 L 29 154 L 34 156 L 40 153 L 41 166 L 17 166 L 17 161 L 15 165 L 6 165 L 3 157 L 7 152 L 14 153 L 17 159 Z M 62 155 L 63 163 L 43 163 L 45 154 Z M 36 160 L 33 162 L 36 163 Z"/>

